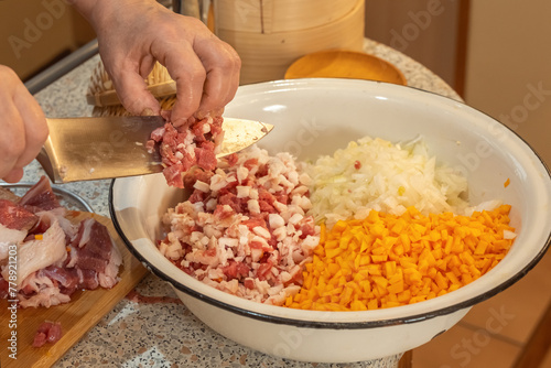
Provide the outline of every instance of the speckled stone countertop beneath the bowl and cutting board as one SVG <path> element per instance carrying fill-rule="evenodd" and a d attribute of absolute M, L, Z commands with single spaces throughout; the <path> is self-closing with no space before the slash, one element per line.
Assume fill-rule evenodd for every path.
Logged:
<path fill-rule="evenodd" d="M 461 99 L 428 68 L 380 43 L 366 40 L 365 51 L 402 71 L 408 85 Z M 85 94 L 99 62 L 96 55 L 35 95 L 47 117 L 91 116 Z M 43 175 L 36 162 L 23 181 Z M 64 184 L 94 212 L 109 216 L 110 181 Z M 198 321 L 172 289 L 150 274 L 91 328 L 55 367 L 397 367 L 400 356 L 356 364 L 310 364 L 267 356 L 238 345 Z"/>

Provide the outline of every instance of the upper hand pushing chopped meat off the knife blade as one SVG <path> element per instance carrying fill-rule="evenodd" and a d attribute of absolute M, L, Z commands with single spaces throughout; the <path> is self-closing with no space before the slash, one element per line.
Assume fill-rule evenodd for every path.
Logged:
<path fill-rule="evenodd" d="M 155 61 L 176 82 L 172 122 L 222 111 L 239 85 L 236 51 L 199 20 L 151 0 L 74 0 L 96 30 L 101 59 L 119 99 L 134 115 L 158 115 L 144 78 Z"/>

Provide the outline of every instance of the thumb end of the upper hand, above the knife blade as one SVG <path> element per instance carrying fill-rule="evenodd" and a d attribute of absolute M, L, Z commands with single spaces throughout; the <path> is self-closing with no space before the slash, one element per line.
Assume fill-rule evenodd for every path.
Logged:
<path fill-rule="evenodd" d="M 159 115 L 161 106 L 137 71 L 121 67 L 111 74 L 119 100 L 132 115 Z"/>

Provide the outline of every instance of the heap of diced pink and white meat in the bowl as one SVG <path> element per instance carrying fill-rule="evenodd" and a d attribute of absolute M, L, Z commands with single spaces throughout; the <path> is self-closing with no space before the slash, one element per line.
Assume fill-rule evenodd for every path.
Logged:
<path fill-rule="evenodd" d="M 220 159 L 215 172 L 191 170 L 187 201 L 169 209 L 159 250 L 184 272 L 225 292 L 278 304 L 298 292 L 301 267 L 320 228 L 289 154 L 253 145 Z"/>

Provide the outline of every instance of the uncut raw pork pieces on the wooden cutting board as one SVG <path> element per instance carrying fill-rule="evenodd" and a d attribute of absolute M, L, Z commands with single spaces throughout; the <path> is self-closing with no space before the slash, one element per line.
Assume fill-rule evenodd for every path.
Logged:
<path fill-rule="evenodd" d="M 50 307 L 77 290 L 117 284 L 122 258 L 109 231 L 71 213 L 45 176 L 21 198 L 0 193 L 0 297 Z"/>

